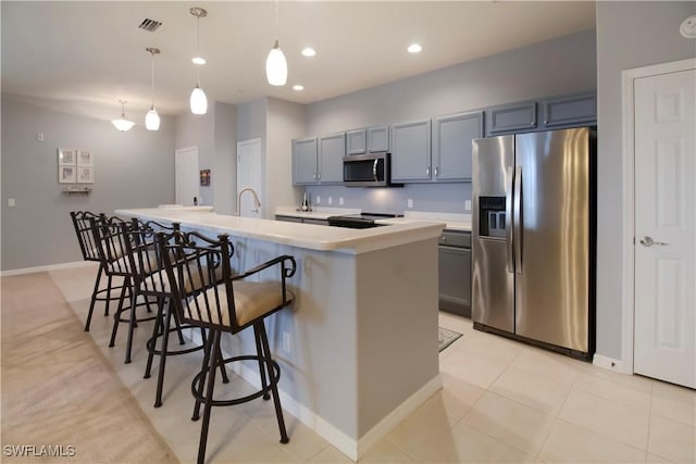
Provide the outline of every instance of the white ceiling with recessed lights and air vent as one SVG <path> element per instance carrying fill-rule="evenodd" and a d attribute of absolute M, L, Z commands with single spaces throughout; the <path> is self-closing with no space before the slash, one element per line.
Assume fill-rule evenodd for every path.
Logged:
<path fill-rule="evenodd" d="M 595 27 L 592 1 L 46 1 L 0 2 L 2 91 L 119 106 L 154 103 L 181 114 L 196 84 L 196 18 L 202 7 L 201 87 L 209 100 L 241 103 L 263 96 L 311 103 L 407 76 Z M 138 28 L 145 18 L 162 25 Z M 288 85 L 265 80 L 277 38 Z M 423 46 L 419 54 L 406 48 Z M 306 46 L 316 55 L 306 58 Z M 303 91 L 293 90 L 301 84 Z"/>

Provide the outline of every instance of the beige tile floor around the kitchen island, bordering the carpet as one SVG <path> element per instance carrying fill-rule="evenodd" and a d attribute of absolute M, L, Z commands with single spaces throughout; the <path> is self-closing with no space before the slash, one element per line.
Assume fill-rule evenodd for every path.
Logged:
<path fill-rule="evenodd" d="M 50 273 L 84 321 L 94 268 Z M 463 336 L 440 353 L 444 388 L 371 449 L 364 463 L 696 462 L 696 392 L 614 374 L 472 328 L 440 313 Z M 144 325 L 145 326 L 145 325 Z M 107 347 L 111 318 L 97 312 L 91 335 L 156 430 L 183 463 L 195 461 L 199 423 L 190 417 L 190 375 L 198 355 L 167 361 L 164 405 L 153 409 L 156 379 L 142 379 L 147 330 L 134 362 L 123 364 L 125 331 Z M 249 389 L 240 378 L 234 388 Z M 208 462 L 348 463 L 345 455 L 286 414 L 279 444 L 269 402 L 213 410 Z"/>

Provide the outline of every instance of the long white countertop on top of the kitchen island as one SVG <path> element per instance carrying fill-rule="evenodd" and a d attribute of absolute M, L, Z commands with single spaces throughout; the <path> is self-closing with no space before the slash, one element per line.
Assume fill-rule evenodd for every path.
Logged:
<path fill-rule="evenodd" d="M 229 234 L 237 237 L 271 241 L 318 251 L 334 251 L 346 254 L 360 254 L 403 243 L 439 237 L 444 223 L 417 221 L 395 224 L 389 227 L 370 229 L 327 228 L 312 224 L 297 224 L 237 217 L 212 212 L 191 212 L 181 210 L 134 209 L 116 210 L 121 216 L 136 216 L 144 220 L 178 222 L 182 227 L 195 228 L 203 234 Z M 269 231 L 268 228 L 284 231 Z M 265 230 L 264 230 L 265 228 Z"/>

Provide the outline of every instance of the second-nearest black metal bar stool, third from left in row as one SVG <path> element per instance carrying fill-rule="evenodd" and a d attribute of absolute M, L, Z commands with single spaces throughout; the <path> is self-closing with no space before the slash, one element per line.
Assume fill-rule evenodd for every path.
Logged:
<path fill-rule="evenodd" d="M 200 328 L 201 331 L 201 344 L 189 343 L 186 348 L 170 348 L 169 339 L 170 334 L 176 333 L 178 336 L 179 346 L 185 346 L 186 342 L 182 335 L 182 329 L 191 328 L 191 325 L 182 325 L 176 312 L 171 309 L 172 306 L 172 291 L 170 287 L 166 273 L 162 267 L 162 259 L 157 247 L 157 233 L 163 233 L 163 240 L 167 243 L 176 240 L 181 237 L 178 234 L 179 224 L 173 223 L 171 226 L 160 224 L 156 221 L 148 221 L 140 223 L 134 218 L 130 224 L 121 224 L 123 235 L 127 237 L 125 242 L 126 256 L 128 256 L 129 264 L 127 272 L 130 274 L 133 286 L 133 300 L 137 301 L 138 297 L 150 298 L 157 301 L 157 315 L 154 324 L 152 326 L 152 335 L 146 342 L 148 350 L 148 362 L 145 368 L 144 378 L 150 378 L 152 362 L 154 355 L 160 356 L 157 392 L 154 398 L 154 407 L 162 405 L 162 387 L 164 383 L 164 369 L 166 365 L 167 355 L 178 355 L 191 353 L 203 349 L 206 343 L 206 329 Z M 219 273 L 219 277 L 222 278 L 222 273 Z M 190 286 L 187 286 L 187 291 L 190 291 Z M 172 318 L 174 319 L 174 327 L 171 327 Z M 158 346 L 159 341 L 159 346 Z M 229 381 L 224 366 L 221 365 L 221 374 L 225 383 Z"/>

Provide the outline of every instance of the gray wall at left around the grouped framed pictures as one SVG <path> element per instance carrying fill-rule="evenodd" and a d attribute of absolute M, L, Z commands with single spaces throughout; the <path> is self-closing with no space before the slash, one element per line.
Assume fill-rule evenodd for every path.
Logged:
<path fill-rule="evenodd" d="M 126 109 L 137 125 L 121 133 L 108 117 L 87 115 L 85 105 L 61 111 L 58 103 L 2 95 L 2 271 L 82 261 L 71 211 L 113 214 L 174 201 L 172 117 L 161 116 L 160 130 L 150 131 Z M 89 196 L 62 193 L 58 148 L 94 152 Z M 16 206 L 8 206 L 10 198 Z"/>

